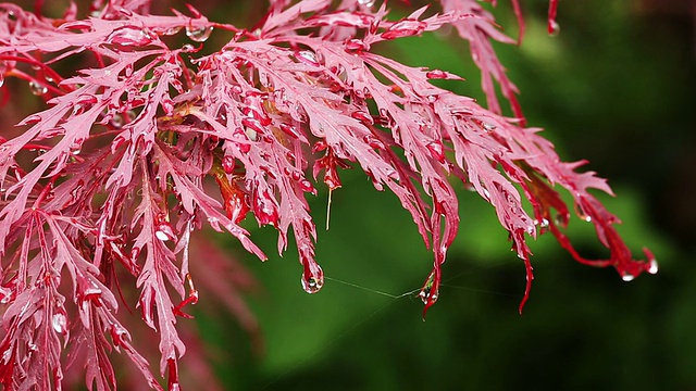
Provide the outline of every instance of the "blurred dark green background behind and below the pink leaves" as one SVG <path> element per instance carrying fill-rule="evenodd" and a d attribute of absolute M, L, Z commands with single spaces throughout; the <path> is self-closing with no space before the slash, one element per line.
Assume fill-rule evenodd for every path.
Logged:
<path fill-rule="evenodd" d="M 663 3 L 673 7 L 651 7 Z M 227 387 L 696 389 L 696 41 L 691 3 L 679 5 L 562 1 L 561 34 L 549 37 L 547 2 L 526 1 L 523 45 L 496 46 L 529 123 L 546 129 L 564 160 L 587 159 L 587 169 L 609 178 L 618 197 L 601 200 L 623 220 L 619 230 L 636 256 L 644 245 L 655 252 L 658 275 L 623 282 L 543 237 L 533 243 L 536 278 L 519 315 L 522 262 L 493 209 L 462 191 L 446 283 L 423 321 L 414 294 L 394 297 L 420 287 L 431 254 L 394 195 L 346 172 L 333 195 L 331 230 L 319 232 L 318 258 L 332 278 L 320 293 L 301 290 L 293 251 L 263 264 L 244 261 L 263 287 L 248 300 L 264 353 L 250 353 L 244 332 L 223 326 L 228 321 L 202 325 L 225 351 L 217 371 Z M 517 34 L 507 2 L 496 15 Z M 478 71 L 455 38 L 430 35 L 380 49 L 458 73 L 467 81 L 446 87 L 482 98 Z M 311 206 L 322 225 L 326 194 Z M 266 249 L 275 245 L 272 230 L 254 236 Z M 581 253 L 606 255 L 588 225 L 573 224 L 571 236 Z"/>

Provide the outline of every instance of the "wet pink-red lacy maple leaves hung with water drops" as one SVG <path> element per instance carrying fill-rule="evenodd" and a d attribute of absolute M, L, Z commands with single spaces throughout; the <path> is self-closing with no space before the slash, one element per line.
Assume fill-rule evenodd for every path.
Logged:
<path fill-rule="evenodd" d="M 29 80 L 50 98 L 48 109 L 20 123 L 20 136 L 0 143 L 5 389 L 60 388 L 67 345 L 69 362 L 86 357 L 89 388 L 115 388 L 115 349 L 160 389 L 117 311 L 116 274 L 124 272 L 135 280 L 145 324 L 159 335 L 160 374 L 177 389 L 187 346 L 177 317 L 198 301 L 194 279 L 237 297 L 189 256 L 192 232 L 228 231 L 265 260 L 241 220 L 250 213 L 275 227 L 281 253 L 291 229 L 302 287 L 315 292 L 324 279 L 306 195 L 321 182 L 338 189 L 348 166 L 394 192 L 432 248 L 433 272 L 420 293 L 425 311 L 437 300 L 440 267 L 459 228 L 453 186 L 475 189 L 510 232 L 526 265 L 520 308 L 532 282 L 526 239 L 545 230 L 577 261 L 614 266 L 624 279 L 655 273 L 649 252 L 649 262 L 635 261 L 612 228 L 617 218 L 588 192 L 610 192 L 606 181 L 576 173 L 581 163 L 562 163 L 538 129 L 523 126 L 517 89 L 490 47 L 490 39 L 510 38 L 476 1 L 440 2 L 442 13 L 424 16 L 423 8 L 391 21 L 374 1 L 275 0 L 250 30 L 210 22 L 192 8 L 186 15 L 150 15 L 149 1 L 98 3 L 86 18 L 71 9 L 62 20 L 0 4 L 3 77 Z M 469 40 L 488 109 L 430 81 L 458 76 L 371 50 L 445 25 Z M 234 38 L 198 55 L 213 27 Z M 165 43 L 182 29 L 190 43 Z M 94 64 L 75 74 L 63 78 L 53 70 L 85 54 Z M 25 65 L 33 71 L 22 71 Z M 494 79 L 517 119 L 500 115 Z M 560 230 L 570 212 L 555 185 L 594 224 L 608 260 L 575 252 Z M 227 306 L 254 327 L 243 304 Z"/>

